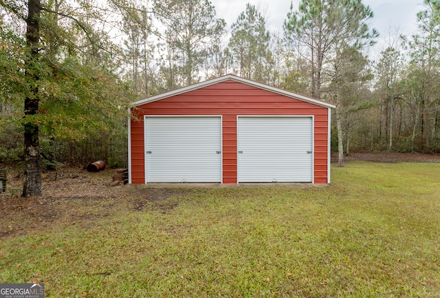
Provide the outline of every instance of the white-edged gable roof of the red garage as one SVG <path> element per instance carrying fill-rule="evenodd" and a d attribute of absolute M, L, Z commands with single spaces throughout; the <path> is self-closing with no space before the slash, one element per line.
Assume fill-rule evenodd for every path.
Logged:
<path fill-rule="evenodd" d="M 225 82 L 225 81 L 235 81 L 235 82 L 238 82 L 238 83 L 243 83 L 245 85 L 249 85 L 249 86 L 252 86 L 252 87 L 263 89 L 263 90 L 266 90 L 266 91 L 269 91 L 269 92 L 273 92 L 273 93 L 276 93 L 276 94 L 281 94 L 283 96 L 287 96 L 287 97 L 290 97 L 290 98 L 296 98 L 296 99 L 299 99 L 299 100 L 303 100 L 306 103 L 313 103 L 314 105 L 319 105 L 321 107 L 336 108 L 336 105 L 333 105 L 332 103 L 327 103 L 325 101 L 322 101 L 322 100 L 319 100 L 319 99 L 316 99 L 316 98 L 312 98 L 312 97 L 305 96 L 305 95 L 302 95 L 302 94 L 298 94 L 298 93 L 295 93 L 295 92 L 290 92 L 290 91 L 287 91 L 285 89 L 281 89 L 281 88 L 273 87 L 273 86 L 266 85 L 266 84 L 263 84 L 263 83 L 259 83 L 259 82 L 256 82 L 256 81 L 252 81 L 252 80 L 249 80 L 247 78 L 242 78 L 241 76 L 235 76 L 234 74 L 227 74 L 225 76 L 219 76 L 218 78 L 212 78 L 212 79 L 210 79 L 208 81 L 204 81 L 204 82 L 197 83 L 197 84 L 194 84 L 194 85 L 189 85 L 189 86 L 186 86 L 186 87 L 175 89 L 175 90 L 170 91 L 170 92 L 165 92 L 165 93 L 162 93 L 162 94 L 157 94 L 155 96 L 151 96 L 151 97 L 148 97 L 148 98 L 137 100 L 134 103 L 132 103 L 130 107 L 137 107 L 138 105 L 144 105 L 145 103 L 152 103 L 153 101 L 156 101 L 156 100 L 161 100 L 161 99 L 168 98 L 168 97 L 171 97 L 171 96 L 175 96 L 175 95 L 178 95 L 178 94 L 183 94 L 183 93 L 186 93 L 186 92 L 190 92 L 192 90 L 201 89 L 203 87 L 208 87 L 210 85 L 214 85 L 214 84 L 217 84 L 217 83 L 222 83 L 222 82 Z"/>

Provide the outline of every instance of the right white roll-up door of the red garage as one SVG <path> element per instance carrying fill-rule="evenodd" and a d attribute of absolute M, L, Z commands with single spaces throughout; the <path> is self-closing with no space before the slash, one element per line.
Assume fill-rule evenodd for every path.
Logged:
<path fill-rule="evenodd" d="M 239 117 L 239 182 L 312 182 L 311 117 Z"/>

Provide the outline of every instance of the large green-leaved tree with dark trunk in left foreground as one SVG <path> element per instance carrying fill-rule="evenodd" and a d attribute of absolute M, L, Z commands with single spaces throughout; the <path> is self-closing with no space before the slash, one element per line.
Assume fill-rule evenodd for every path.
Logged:
<path fill-rule="evenodd" d="M 8 89 L 1 95 L 11 105 L 23 105 L 21 123 L 24 129 L 24 184 L 23 196 L 42 195 L 40 165 L 40 135 L 54 138 L 84 138 L 90 131 L 109 128 L 106 119 L 119 114 L 122 98 L 129 98 L 124 84 L 111 72 L 112 59 L 100 50 L 103 43 L 94 30 L 73 12 L 80 9 L 61 2 L 29 0 L 27 6 L 20 1 L 1 1 L 17 24 L 25 25 L 25 36 L 20 30 L 11 30 L 11 38 L 23 49 L 10 56 L 17 65 L 13 74 L 0 76 L 8 80 Z M 85 6 L 84 9 L 89 8 Z M 57 17 L 54 17 L 56 14 Z M 59 18 L 58 18 L 59 17 Z M 62 18 L 62 19 L 61 19 Z M 78 47 L 80 30 L 87 42 Z M 50 34 L 49 34 L 50 33 Z M 77 33 L 77 32 L 75 32 Z M 91 49 L 95 61 L 84 56 Z M 8 48 L 0 48 L 1 56 Z M 13 95 L 7 95 L 12 93 Z"/>

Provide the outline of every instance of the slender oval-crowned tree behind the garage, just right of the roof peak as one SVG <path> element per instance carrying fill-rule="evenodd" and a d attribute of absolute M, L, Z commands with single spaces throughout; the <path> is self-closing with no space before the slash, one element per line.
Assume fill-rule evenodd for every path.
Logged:
<path fill-rule="evenodd" d="M 230 53 L 240 76 L 267 83 L 270 68 L 270 34 L 263 15 L 250 3 L 231 27 Z"/>

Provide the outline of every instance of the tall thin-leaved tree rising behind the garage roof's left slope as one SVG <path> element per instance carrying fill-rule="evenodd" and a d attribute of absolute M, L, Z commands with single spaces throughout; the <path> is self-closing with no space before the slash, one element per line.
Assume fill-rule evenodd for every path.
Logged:
<path fill-rule="evenodd" d="M 177 60 L 184 83 L 190 85 L 197 81 L 206 48 L 223 36 L 225 21 L 217 18 L 208 0 L 156 0 L 154 8 L 165 26 L 163 39 L 177 50 L 171 58 Z"/>

